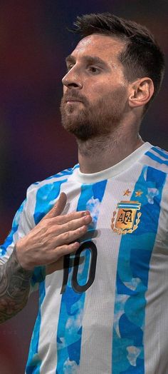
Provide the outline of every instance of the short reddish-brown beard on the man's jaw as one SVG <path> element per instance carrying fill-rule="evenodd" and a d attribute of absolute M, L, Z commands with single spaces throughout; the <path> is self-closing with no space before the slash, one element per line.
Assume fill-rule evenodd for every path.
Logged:
<path fill-rule="evenodd" d="M 65 110 L 66 103 L 63 97 L 61 100 L 61 118 L 65 130 L 73 133 L 80 141 L 108 136 L 117 126 L 120 126 L 122 120 L 122 98 L 125 96 L 121 90 L 112 93 L 112 98 L 109 98 L 109 95 L 107 98 L 100 98 L 93 105 L 85 98 L 83 101 L 84 108 L 74 115 L 73 111 L 75 109 L 73 106 L 69 108 L 69 114 Z"/>

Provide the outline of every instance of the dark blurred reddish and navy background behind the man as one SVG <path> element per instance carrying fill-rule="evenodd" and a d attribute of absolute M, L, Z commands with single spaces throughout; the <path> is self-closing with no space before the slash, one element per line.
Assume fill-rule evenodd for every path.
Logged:
<path fill-rule="evenodd" d="M 77 39 L 77 15 L 111 11 L 149 27 L 167 60 L 167 0 L 0 1 L 0 241 L 9 233 L 26 188 L 77 162 L 73 137 L 61 128 L 61 77 Z M 142 124 L 141 135 L 168 150 L 167 78 Z M 0 325 L 0 373 L 23 374 L 38 308 Z M 46 373 L 47 374 L 47 373 Z"/>

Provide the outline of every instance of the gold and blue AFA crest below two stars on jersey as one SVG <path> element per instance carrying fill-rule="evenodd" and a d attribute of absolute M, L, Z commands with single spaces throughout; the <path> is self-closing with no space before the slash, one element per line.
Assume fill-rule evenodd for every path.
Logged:
<path fill-rule="evenodd" d="M 115 233 L 126 234 L 135 231 L 140 223 L 141 203 L 139 201 L 120 201 L 117 211 L 113 212 L 111 228 Z"/>

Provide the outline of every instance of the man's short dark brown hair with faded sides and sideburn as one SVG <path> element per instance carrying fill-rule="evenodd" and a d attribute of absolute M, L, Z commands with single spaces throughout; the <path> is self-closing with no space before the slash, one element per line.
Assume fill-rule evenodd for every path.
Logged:
<path fill-rule="evenodd" d="M 154 84 L 154 94 L 158 93 L 164 76 L 164 54 L 150 31 L 134 21 L 129 21 L 110 13 L 84 14 L 74 22 L 73 31 L 81 39 L 90 34 L 117 36 L 125 41 L 126 48 L 120 54 L 125 67 L 125 78 L 133 81 L 147 76 Z M 147 103 L 147 106 L 149 103 Z"/>

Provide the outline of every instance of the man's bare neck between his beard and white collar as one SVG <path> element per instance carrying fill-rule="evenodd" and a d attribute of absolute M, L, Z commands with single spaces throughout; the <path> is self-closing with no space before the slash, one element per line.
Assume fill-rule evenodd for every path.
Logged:
<path fill-rule="evenodd" d="M 118 128 L 105 137 L 78 142 L 78 160 L 82 173 L 97 173 L 114 166 L 144 143 L 139 133 Z"/>

